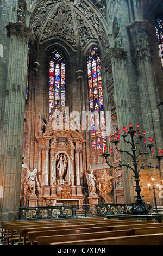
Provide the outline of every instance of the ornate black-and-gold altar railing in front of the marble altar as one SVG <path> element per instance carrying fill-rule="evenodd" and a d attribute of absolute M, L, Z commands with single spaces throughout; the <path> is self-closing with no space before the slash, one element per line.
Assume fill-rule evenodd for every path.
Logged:
<path fill-rule="evenodd" d="M 82 204 L 82 205 L 59 205 L 21 207 L 19 220 L 54 219 L 107 216 L 114 214 L 131 214 L 133 204 Z"/>

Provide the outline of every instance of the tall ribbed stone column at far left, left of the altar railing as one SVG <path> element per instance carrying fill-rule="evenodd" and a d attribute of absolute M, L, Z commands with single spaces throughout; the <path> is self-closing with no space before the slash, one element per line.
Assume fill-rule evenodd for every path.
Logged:
<path fill-rule="evenodd" d="M 0 211 L 4 220 L 13 220 L 18 217 L 20 207 L 27 56 L 31 29 L 23 22 L 9 22 L 6 28 L 9 58 L 1 147 L 3 162 L 0 167 L 0 184 L 3 187 L 3 198 Z"/>

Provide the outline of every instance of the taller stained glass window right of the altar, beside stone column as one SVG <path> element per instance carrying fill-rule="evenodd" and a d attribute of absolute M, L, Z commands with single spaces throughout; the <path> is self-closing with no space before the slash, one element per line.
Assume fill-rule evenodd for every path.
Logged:
<path fill-rule="evenodd" d="M 106 132 L 100 53 L 93 47 L 87 55 L 89 109 L 91 112 L 92 163 L 102 163 L 101 153 L 106 150 Z"/>

